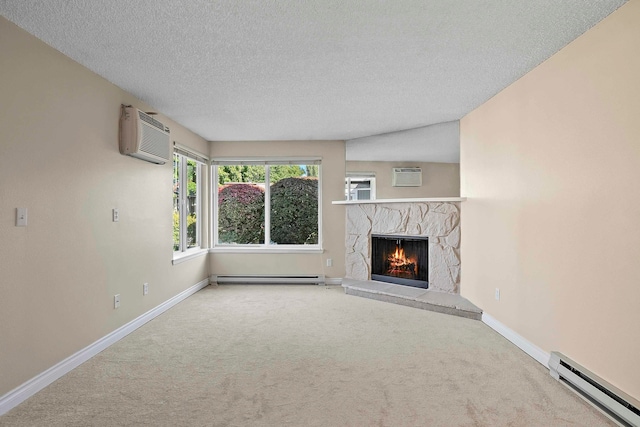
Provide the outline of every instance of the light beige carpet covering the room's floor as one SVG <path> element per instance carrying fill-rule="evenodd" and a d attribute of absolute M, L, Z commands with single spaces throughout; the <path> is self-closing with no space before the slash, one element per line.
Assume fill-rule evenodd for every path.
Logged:
<path fill-rule="evenodd" d="M 315 285 L 209 286 L 0 426 L 608 426 L 475 320 Z"/>

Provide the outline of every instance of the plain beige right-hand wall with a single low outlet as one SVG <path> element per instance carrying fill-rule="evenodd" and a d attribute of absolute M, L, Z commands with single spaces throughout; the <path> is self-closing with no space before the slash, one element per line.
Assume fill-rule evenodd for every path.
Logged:
<path fill-rule="evenodd" d="M 633 0 L 460 125 L 462 295 L 636 399 L 638 52 Z"/>

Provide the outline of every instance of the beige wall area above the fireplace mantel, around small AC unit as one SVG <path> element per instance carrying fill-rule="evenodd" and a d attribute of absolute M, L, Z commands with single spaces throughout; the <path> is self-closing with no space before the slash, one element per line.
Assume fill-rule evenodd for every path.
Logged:
<path fill-rule="evenodd" d="M 422 187 L 392 187 L 393 168 L 422 168 Z M 374 172 L 377 199 L 460 196 L 460 165 L 426 162 L 347 162 L 348 172 Z"/>

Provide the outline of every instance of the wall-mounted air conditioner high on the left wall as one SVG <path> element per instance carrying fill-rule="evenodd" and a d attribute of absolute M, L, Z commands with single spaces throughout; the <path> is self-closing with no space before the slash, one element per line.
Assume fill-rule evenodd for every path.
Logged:
<path fill-rule="evenodd" d="M 122 106 L 120 154 L 163 165 L 171 160 L 169 128 L 149 114 Z"/>

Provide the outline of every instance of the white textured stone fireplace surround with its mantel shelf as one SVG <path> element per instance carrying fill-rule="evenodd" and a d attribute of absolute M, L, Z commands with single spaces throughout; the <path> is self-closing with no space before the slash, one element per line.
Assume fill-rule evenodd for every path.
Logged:
<path fill-rule="evenodd" d="M 379 199 L 346 205 L 346 278 L 371 280 L 371 234 L 427 236 L 429 290 L 458 294 L 460 203 L 465 198 Z"/>

